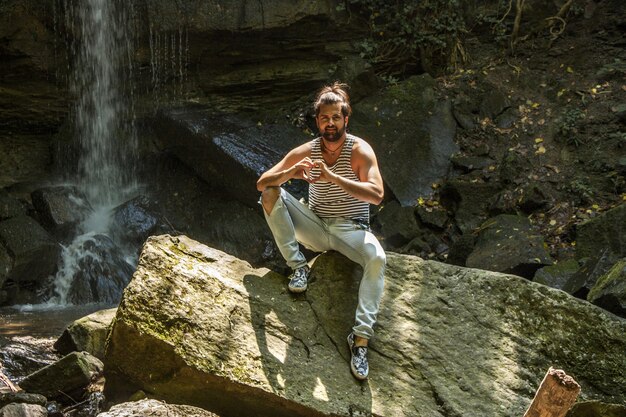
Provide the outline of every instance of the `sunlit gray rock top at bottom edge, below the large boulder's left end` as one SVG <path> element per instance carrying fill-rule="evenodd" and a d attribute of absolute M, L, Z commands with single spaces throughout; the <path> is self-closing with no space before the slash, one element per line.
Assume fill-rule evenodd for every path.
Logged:
<path fill-rule="evenodd" d="M 140 400 L 117 404 L 98 417 L 219 417 L 202 408 L 190 405 L 167 404 L 157 400 Z"/>

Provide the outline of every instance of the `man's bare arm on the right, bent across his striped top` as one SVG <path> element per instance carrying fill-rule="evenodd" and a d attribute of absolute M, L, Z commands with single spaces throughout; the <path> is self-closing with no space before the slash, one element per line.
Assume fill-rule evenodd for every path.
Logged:
<path fill-rule="evenodd" d="M 385 190 L 383 179 L 378 168 L 376 154 L 364 140 L 357 140 L 352 148 L 352 169 L 359 181 L 349 180 L 330 171 L 324 161 L 315 161 L 320 168 L 320 176 L 314 181 L 329 181 L 335 183 L 354 198 L 370 204 L 380 204 L 383 201 Z"/>

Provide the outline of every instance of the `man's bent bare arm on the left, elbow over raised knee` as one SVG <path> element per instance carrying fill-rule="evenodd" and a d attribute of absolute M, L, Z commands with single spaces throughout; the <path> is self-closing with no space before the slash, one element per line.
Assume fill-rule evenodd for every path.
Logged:
<path fill-rule="evenodd" d="M 292 149 L 279 163 L 259 177 L 257 190 L 263 192 L 267 187 L 279 187 L 291 179 L 309 181 L 309 171 L 314 166 L 310 155 L 310 143 Z"/>

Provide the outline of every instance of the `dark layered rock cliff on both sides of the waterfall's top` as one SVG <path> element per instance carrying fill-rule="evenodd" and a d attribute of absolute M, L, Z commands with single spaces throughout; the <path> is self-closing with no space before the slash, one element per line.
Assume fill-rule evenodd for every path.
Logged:
<path fill-rule="evenodd" d="M 76 7 L 0 4 L 0 187 L 45 178 L 72 155 L 53 154 L 51 144 L 55 136 L 71 143 Z M 124 8 L 138 118 L 189 101 L 288 113 L 321 84 L 349 76 L 345 68 L 365 67 L 355 43 L 366 28 L 333 1 L 136 0 Z"/>

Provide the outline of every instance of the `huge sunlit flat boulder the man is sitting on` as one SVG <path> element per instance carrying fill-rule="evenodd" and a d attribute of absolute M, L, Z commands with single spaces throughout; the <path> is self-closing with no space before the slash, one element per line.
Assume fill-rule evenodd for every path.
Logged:
<path fill-rule="evenodd" d="M 519 416 L 555 366 L 583 399 L 626 402 L 625 320 L 516 276 L 393 253 L 361 384 L 345 342 L 360 276 L 325 254 L 295 297 L 267 269 L 151 237 L 108 340 L 105 394 L 225 417 Z"/>

